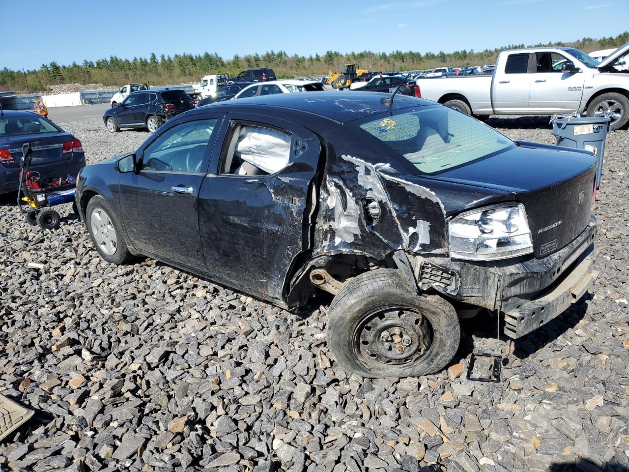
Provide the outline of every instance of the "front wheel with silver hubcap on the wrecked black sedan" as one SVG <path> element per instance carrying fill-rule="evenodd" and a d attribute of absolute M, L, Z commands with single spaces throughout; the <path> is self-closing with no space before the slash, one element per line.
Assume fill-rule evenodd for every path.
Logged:
<path fill-rule="evenodd" d="M 92 225 L 92 215 L 95 212 L 99 215 L 99 220 L 97 221 L 102 223 L 101 226 Z M 110 224 L 106 222 L 104 216 L 106 216 Z M 118 218 L 111 209 L 111 206 L 109 206 L 109 203 L 107 203 L 106 199 L 102 196 L 94 195 L 87 202 L 85 224 L 89 237 L 92 240 L 92 244 L 94 244 L 99 256 L 101 256 L 105 261 L 111 262 L 111 264 L 126 264 L 127 262 L 133 260 L 133 254 L 129 252 L 125 242 L 125 237 L 122 233 L 122 225 L 118 222 Z M 106 244 L 106 242 L 103 244 L 102 238 L 100 235 L 97 237 L 95 232 L 99 230 L 109 230 L 108 234 L 111 235 L 111 228 L 113 228 L 113 237 L 111 238 L 112 244 Z M 108 251 L 111 252 L 111 254 L 108 254 Z"/>

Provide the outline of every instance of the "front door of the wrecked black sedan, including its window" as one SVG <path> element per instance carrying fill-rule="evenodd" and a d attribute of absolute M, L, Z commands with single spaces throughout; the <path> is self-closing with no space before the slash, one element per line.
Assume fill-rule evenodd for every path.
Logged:
<path fill-rule="evenodd" d="M 136 172 L 121 174 L 120 208 L 133 247 L 174 265 L 203 270 L 197 199 L 219 113 L 160 128 L 136 154 Z"/>

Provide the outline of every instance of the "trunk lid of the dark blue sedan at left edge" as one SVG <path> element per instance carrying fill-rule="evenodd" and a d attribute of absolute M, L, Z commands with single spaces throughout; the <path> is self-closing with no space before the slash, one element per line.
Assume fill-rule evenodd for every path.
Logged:
<path fill-rule="evenodd" d="M 74 153 L 63 152 L 63 147 L 65 142 L 72 141 L 72 139 L 74 137 L 70 133 L 65 132 L 0 139 L 0 147 L 9 149 L 9 152 L 13 155 L 13 163 L 6 164 L 5 167 L 19 167 L 19 161 L 22 158 L 22 145 L 25 143 L 31 143 L 31 149 L 33 150 L 31 166 L 69 160 Z"/>

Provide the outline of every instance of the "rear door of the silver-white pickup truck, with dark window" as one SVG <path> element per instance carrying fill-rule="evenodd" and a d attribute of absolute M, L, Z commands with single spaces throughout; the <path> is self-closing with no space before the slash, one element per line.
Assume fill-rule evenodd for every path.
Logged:
<path fill-rule="evenodd" d="M 528 74 L 530 54 L 509 54 L 501 74 L 494 77 L 492 102 L 494 111 L 504 113 L 526 112 L 531 88 Z"/>

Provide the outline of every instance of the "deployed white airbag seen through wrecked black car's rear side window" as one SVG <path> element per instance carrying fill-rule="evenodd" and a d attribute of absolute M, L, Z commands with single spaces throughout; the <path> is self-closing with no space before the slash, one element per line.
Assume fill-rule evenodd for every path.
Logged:
<path fill-rule="evenodd" d="M 258 126 L 243 126 L 235 154 L 240 159 L 274 174 L 288 165 L 291 137 L 281 131 Z"/>

